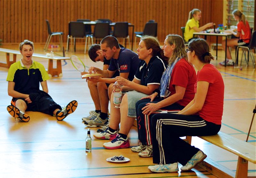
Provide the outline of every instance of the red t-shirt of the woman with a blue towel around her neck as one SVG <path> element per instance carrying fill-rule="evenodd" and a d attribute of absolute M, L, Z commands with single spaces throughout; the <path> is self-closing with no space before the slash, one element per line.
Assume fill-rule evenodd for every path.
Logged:
<path fill-rule="evenodd" d="M 175 94 L 175 85 L 186 88 L 183 98 L 177 101 L 177 104 L 186 106 L 195 97 L 194 85 L 196 83 L 196 71 L 194 67 L 184 58 L 176 63 L 172 70 L 169 91 L 171 95 Z"/>

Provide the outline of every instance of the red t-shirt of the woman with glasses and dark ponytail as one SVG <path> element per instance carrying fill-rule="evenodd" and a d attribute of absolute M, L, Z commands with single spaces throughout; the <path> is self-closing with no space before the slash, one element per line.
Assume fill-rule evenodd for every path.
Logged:
<path fill-rule="evenodd" d="M 220 125 L 223 114 L 224 82 L 220 72 L 212 64 L 206 64 L 197 72 L 197 81 L 209 82 L 204 106 L 197 112 L 201 118 L 208 122 Z M 195 84 L 196 93 L 197 83 Z"/>

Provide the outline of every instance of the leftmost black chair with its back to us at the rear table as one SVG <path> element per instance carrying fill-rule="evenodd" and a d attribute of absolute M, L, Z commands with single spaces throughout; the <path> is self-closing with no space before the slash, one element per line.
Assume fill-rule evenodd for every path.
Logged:
<path fill-rule="evenodd" d="M 68 23 L 68 39 L 67 39 L 67 52 L 68 52 L 68 45 L 69 45 L 69 38 L 71 38 L 71 43 L 72 39 L 74 38 L 74 51 L 76 52 L 76 39 L 77 38 L 86 38 L 89 35 L 85 35 L 85 26 L 84 23 L 81 21 L 71 21 Z M 86 46 L 85 46 L 86 48 Z M 84 49 L 85 50 L 85 49 Z"/>

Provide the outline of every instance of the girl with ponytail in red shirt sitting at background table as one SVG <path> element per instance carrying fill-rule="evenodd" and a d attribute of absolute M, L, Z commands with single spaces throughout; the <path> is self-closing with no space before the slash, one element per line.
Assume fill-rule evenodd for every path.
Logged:
<path fill-rule="evenodd" d="M 233 17 L 234 19 L 237 21 L 237 29 L 232 29 L 232 30 L 227 30 L 225 32 L 229 32 L 232 33 L 233 35 L 235 35 L 236 37 L 239 37 L 239 40 L 237 41 L 237 38 L 232 38 L 232 39 L 228 39 L 227 41 L 227 46 L 237 46 L 238 43 L 242 44 L 243 46 L 248 46 L 250 43 L 250 39 L 251 39 L 251 29 L 249 26 L 248 21 L 245 19 L 245 15 L 235 9 L 233 12 Z M 225 43 L 226 40 L 222 41 L 222 48 L 223 50 L 225 50 Z M 233 66 L 235 63 L 232 60 L 229 48 L 227 48 L 227 65 L 228 66 Z M 220 65 L 224 66 L 225 65 L 225 61 L 220 62 Z"/>

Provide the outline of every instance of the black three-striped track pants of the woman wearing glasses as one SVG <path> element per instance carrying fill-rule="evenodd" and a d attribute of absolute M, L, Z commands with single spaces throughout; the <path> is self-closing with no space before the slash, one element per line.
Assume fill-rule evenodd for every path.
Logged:
<path fill-rule="evenodd" d="M 198 115 L 154 114 L 151 122 L 153 163 L 186 165 L 199 151 L 180 137 L 215 135 L 221 125 L 207 122 Z"/>

